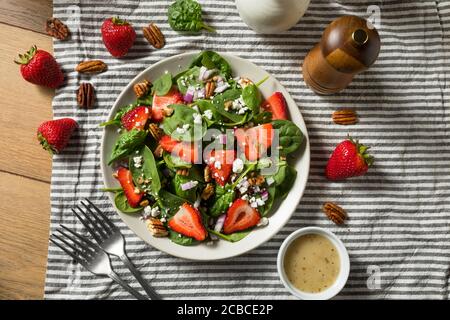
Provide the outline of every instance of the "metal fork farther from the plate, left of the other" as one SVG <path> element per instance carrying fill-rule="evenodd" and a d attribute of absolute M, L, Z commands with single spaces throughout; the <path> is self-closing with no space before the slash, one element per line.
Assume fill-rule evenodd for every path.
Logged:
<path fill-rule="evenodd" d="M 50 238 L 50 241 L 57 247 L 71 256 L 76 262 L 81 264 L 91 273 L 99 276 L 108 276 L 137 299 L 148 300 L 136 289 L 130 287 L 117 273 L 114 272 L 111 267 L 109 256 L 98 245 L 75 231 L 70 230 L 66 226 L 61 225 L 61 228 L 65 230 L 57 230 L 61 235 L 55 233 L 52 235 L 52 237 L 59 241 Z M 70 240 L 70 242 L 67 241 L 67 239 Z"/>

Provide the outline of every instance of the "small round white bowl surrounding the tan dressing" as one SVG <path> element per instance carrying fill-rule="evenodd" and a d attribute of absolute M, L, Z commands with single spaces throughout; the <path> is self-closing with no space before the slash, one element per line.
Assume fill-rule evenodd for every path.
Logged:
<path fill-rule="evenodd" d="M 326 237 L 334 244 L 339 253 L 339 260 L 341 263 L 339 275 L 337 276 L 336 281 L 331 287 L 319 293 L 300 291 L 289 281 L 284 270 L 284 256 L 286 254 L 287 248 L 295 239 L 306 234 L 319 234 Z M 348 257 L 348 252 L 344 244 L 334 233 L 318 227 L 307 227 L 294 231 L 283 241 L 283 244 L 278 251 L 277 268 L 281 282 L 284 284 L 286 289 L 288 289 L 289 292 L 297 298 L 300 298 L 302 300 L 327 300 L 337 295 L 345 286 L 348 275 L 350 273 L 350 259 Z"/>

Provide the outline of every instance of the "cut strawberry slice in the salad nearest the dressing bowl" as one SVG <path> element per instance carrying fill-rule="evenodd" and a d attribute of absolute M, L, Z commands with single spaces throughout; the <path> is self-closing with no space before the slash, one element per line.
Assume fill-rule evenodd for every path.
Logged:
<path fill-rule="evenodd" d="M 223 232 L 230 234 L 236 231 L 246 230 L 256 226 L 261 220 L 261 216 L 255 208 L 241 199 L 236 199 L 227 211 L 225 222 L 223 223 Z"/>

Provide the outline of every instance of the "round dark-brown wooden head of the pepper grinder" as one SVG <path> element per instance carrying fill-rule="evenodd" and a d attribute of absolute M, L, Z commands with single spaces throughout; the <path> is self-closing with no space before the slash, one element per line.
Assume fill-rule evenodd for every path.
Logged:
<path fill-rule="evenodd" d="M 357 16 L 343 16 L 325 29 L 322 54 L 336 70 L 359 73 L 370 67 L 380 52 L 380 36 L 375 28 Z"/>

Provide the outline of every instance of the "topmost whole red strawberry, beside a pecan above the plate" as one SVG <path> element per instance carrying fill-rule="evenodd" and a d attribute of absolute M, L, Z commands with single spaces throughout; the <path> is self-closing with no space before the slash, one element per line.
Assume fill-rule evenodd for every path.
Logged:
<path fill-rule="evenodd" d="M 101 31 L 106 49 L 116 58 L 126 55 L 136 39 L 136 32 L 131 24 L 118 17 L 106 19 Z"/>

